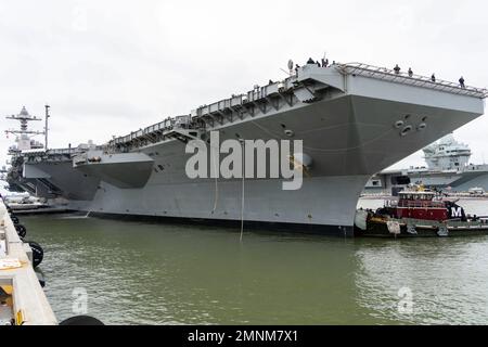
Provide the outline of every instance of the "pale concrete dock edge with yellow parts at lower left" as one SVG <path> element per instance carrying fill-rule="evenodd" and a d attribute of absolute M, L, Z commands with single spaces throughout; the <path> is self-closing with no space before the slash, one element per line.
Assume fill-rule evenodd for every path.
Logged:
<path fill-rule="evenodd" d="M 0 324 L 56 325 L 31 266 L 31 249 L 18 237 L 0 200 Z"/>

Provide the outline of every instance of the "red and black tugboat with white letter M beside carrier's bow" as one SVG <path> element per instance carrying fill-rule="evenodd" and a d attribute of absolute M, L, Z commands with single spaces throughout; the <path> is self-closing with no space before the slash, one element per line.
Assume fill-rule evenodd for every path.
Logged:
<path fill-rule="evenodd" d="M 422 188 L 399 193 L 376 211 L 359 209 L 358 236 L 461 236 L 488 235 L 488 217 L 470 216 L 457 202 L 442 200 Z"/>

